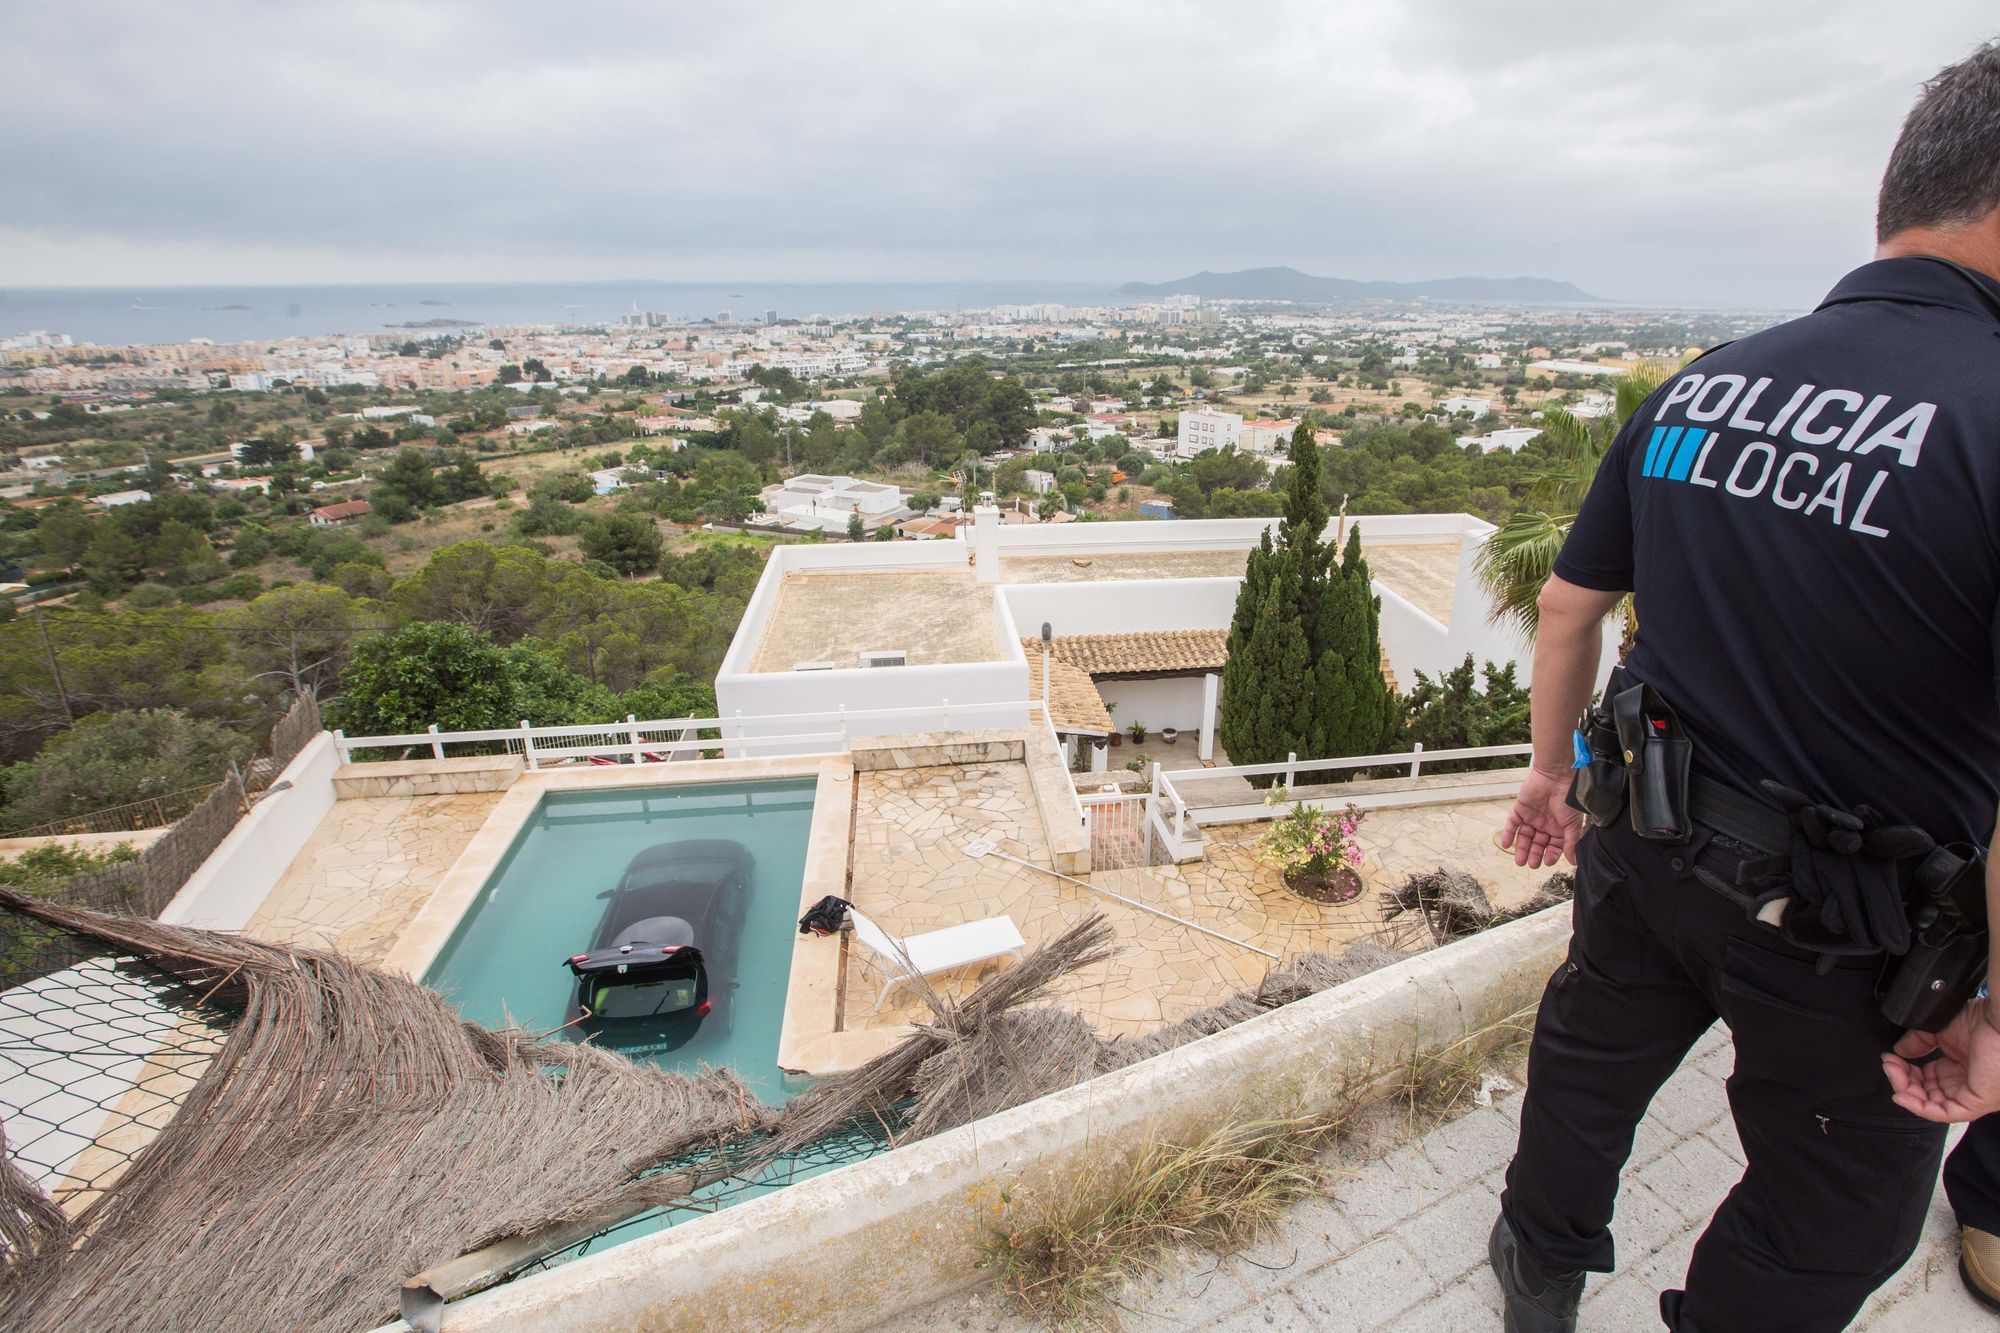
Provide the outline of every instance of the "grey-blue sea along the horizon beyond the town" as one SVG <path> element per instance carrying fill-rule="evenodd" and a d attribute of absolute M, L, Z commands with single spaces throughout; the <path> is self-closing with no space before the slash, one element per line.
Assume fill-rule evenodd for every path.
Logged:
<path fill-rule="evenodd" d="M 988 306 L 1126 304 L 1110 284 L 1076 282 L 380 282 L 342 286 L 0 286 L 0 338 L 76 342 L 252 342 L 490 324 L 612 324 L 632 310 L 754 324 Z"/>

